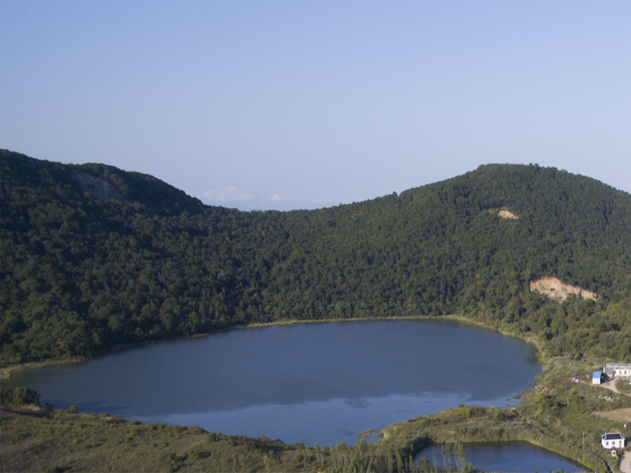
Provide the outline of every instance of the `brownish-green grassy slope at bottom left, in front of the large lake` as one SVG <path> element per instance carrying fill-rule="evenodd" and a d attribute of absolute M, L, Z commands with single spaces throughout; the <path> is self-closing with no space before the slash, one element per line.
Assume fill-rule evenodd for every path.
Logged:
<path fill-rule="evenodd" d="M 199 427 L 127 422 L 106 414 L 0 409 L 0 465 L 7 472 L 301 472 L 329 453 Z"/>

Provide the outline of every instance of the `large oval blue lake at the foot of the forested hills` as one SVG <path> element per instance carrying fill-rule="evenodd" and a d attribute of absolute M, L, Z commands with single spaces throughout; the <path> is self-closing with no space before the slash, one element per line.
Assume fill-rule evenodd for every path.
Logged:
<path fill-rule="evenodd" d="M 505 406 L 541 373 L 533 347 L 450 320 L 232 330 L 9 378 L 57 409 L 198 425 L 288 443 L 358 433 L 459 404 Z"/>

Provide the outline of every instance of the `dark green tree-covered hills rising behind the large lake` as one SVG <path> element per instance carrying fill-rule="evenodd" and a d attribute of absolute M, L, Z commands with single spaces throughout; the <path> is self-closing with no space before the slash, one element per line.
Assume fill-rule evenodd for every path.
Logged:
<path fill-rule="evenodd" d="M 590 178 L 488 165 L 400 196 L 241 212 L 0 151 L 0 184 L 3 364 L 249 322 L 442 314 L 631 360 L 631 196 Z M 543 276 L 599 299 L 531 293 Z"/>

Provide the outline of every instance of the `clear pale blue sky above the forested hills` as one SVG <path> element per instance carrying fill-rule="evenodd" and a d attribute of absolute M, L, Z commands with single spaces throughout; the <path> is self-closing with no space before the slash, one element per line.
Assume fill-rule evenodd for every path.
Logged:
<path fill-rule="evenodd" d="M 313 208 L 489 162 L 631 191 L 631 3 L 0 2 L 0 148 Z"/>

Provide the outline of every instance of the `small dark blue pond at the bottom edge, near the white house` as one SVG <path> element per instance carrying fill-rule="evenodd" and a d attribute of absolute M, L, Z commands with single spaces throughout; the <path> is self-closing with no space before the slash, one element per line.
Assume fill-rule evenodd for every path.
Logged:
<path fill-rule="evenodd" d="M 432 464 L 435 460 L 438 465 L 445 465 L 441 447 L 430 445 L 423 448 L 415 455 L 414 461 L 429 458 Z M 560 469 L 566 472 L 585 470 L 569 458 L 523 441 L 463 443 L 463 448 L 466 461 L 473 465 L 473 468 L 485 471 L 534 473 Z"/>

